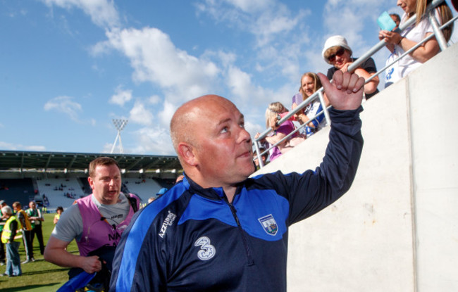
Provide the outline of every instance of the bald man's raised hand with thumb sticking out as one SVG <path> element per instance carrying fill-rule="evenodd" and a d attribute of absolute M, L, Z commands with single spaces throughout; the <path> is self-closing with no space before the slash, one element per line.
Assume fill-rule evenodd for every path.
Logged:
<path fill-rule="evenodd" d="M 328 96 L 331 106 L 336 110 L 356 110 L 361 106 L 364 91 L 364 78 L 349 72 L 343 73 L 336 70 L 333 83 L 328 78 L 318 73 L 324 91 Z"/>

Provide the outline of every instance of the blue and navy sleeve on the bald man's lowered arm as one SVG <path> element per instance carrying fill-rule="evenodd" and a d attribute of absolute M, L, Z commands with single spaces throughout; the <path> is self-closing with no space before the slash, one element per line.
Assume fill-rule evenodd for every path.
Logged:
<path fill-rule="evenodd" d="M 147 205 L 135 213 L 123 232 L 109 291 L 166 291 L 166 252 L 158 235 L 161 227 L 156 224 L 157 214 L 157 208 Z"/>

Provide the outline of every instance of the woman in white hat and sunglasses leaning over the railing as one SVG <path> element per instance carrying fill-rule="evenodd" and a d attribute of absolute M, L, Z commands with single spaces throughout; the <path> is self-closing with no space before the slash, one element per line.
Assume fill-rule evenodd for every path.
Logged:
<path fill-rule="evenodd" d="M 329 80 L 333 77 L 336 70 L 342 70 L 344 73 L 348 71 L 348 66 L 357 60 L 357 58 L 352 58 L 352 53 L 352 49 L 348 46 L 345 37 L 335 35 L 326 40 L 322 55 L 326 63 L 333 65 L 332 68 L 328 69 L 327 75 Z M 354 73 L 359 77 L 363 77 L 364 80 L 369 79 L 376 72 L 376 63 L 373 61 L 373 58 L 367 59 L 354 70 Z M 370 99 L 378 93 L 378 82 L 378 77 L 374 77 L 373 80 L 364 85 L 366 99 Z"/>

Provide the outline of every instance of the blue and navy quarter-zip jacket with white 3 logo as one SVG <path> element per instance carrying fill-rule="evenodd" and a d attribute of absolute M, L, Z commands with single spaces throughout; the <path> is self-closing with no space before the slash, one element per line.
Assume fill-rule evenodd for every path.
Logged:
<path fill-rule="evenodd" d="M 286 291 L 288 227 L 349 189 L 361 110 L 330 110 L 330 141 L 315 171 L 246 179 L 232 203 L 223 189 L 185 177 L 123 232 L 110 291 Z"/>

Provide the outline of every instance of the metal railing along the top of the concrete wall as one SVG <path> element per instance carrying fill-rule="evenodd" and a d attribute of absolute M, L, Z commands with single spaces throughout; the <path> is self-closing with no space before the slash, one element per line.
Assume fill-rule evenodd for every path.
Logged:
<path fill-rule="evenodd" d="M 435 15 L 434 14 L 435 14 L 435 8 L 439 4 L 441 4 L 443 1 L 445 1 L 445 0 L 433 0 L 433 2 L 431 4 L 429 4 L 428 8 L 426 9 L 425 15 L 423 15 L 423 17 L 428 17 L 428 20 L 429 20 L 429 22 L 431 23 L 431 25 L 433 27 L 433 34 L 428 35 L 428 37 L 424 38 L 421 42 L 419 42 L 418 44 L 413 46 L 408 51 L 405 51 L 404 53 L 402 53 L 402 55 L 399 56 L 398 58 L 396 58 L 394 61 L 392 61 L 388 65 L 385 65 L 385 67 L 383 67 L 381 70 L 378 70 L 378 72 L 376 72 L 374 75 L 372 75 L 371 77 L 369 77 L 366 80 L 365 84 L 370 82 L 371 80 L 373 80 L 373 78 L 375 78 L 378 75 L 380 75 L 382 72 L 384 72 L 391 65 L 393 65 L 394 63 L 399 61 L 401 58 L 404 58 L 404 56 L 407 56 L 407 54 L 411 53 L 412 51 L 417 49 L 419 46 L 421 46 L 424 42 L 427 42 L 429 39 L 431 39 L 433 37 L 435 37 L 437 39 L 441 51 L 444 51 L 445 49 L 447 49 L 448 44 L 447 44 L 447 42 L 445 40 L 444 35 L 442 34 L 442 30 L 445 27 L 447 27 L 448 25 L 451 25 L 455 20 L 457 20 L 458 15 L 455 16 L 454 18 L 452 18 L 447 23 L 445 23 L 445 24 L 443 24 L 442 26 L 439 27 L 438 21 L 435 19 Z M 413 25 L 415 22 L 416 22 L 416 15 L 413 15 L 411 18 L 409 18 L 409 20 L 407 20 L 405 23 L 400 25 L 399 30 L 402 32 L 405 29 L 407 29 L 408 27 L 410 27 L 411 25 Z M 377 53 L 378 51 L 380 51 L 380 49 L 382 49 L 384 46 L 386 46 L 385 41 L 384 40 L 380 40 L 380 42 L 378 42 L 375 46 L 373 46 L 371 49 L 369 49 L 369 51 L 364 53 L 361 57 L 357 58 L 356 61 L 354 61 L 351 65 L 349 65 L 348 66 L 348 71 L 352 72 L 355 69 L 357 69 L 359 67 L 359 65 L 361 65 L 361 63 L 363 63 L 367 59 L 371 58 L 371 56 L 373 56 L 374 53 Z M 318 89 L 316 92 L 314 92 L 314 94 L 309 96 L 309 98 L 307 98 L 306 100 L 302 101 L 302 103 L 299 103 L 299 105 L 297 105 L 297 107 L 294 110 L 291 110 L 289 113 L 287 113 L 287 115 L 285 115 L 283 118 L 278 120 L 277 125 L 281 125 L 283 122 L 286 122 L 287 120 L 289 120 L 292 117 L 292 115 L 295 115 L 297 112 L 299 112 L 299 110 L 302 110 L 309 103 L 315 101 L 316 99 L 318 99 L 319 102 L 321 103 L 321 107 L 323 108 L 323 110 L 321 110 L 319 113 L 316 113 L 316 115 L 314 115 L 314 117 L 311 117 L 307 122 L 304 122 L 300 127 L 297 127 L 297 129 L 295 129 L 293 132 L 291 132 L 290 134 L 287 134 L 286 137 L 284 137 L 283 139 L 278 141 L 276 144 L 271 145 L 269 148 L 267 148 L 266 150 L 264 150 L 263 152 L 260 153 L 259 142 L 261 140 L 263 140 L 268 134 L 270 134 L 273 131 L 273 129 L 271 129 L 271 128 L 266 129 L 264 132 L 262 132 L 259 135 L 258 138 L 254 139 L 253 146 L 254 146 L 254 150 L 256 151 L 256 157 L 257 157 L 257 159 L 259 161 L 259 167 L 261 167 L 261 168 L 264 167 L 264 163 L 263 163 L 263 161 L 261 159 L 261 155 L 264 155 L 264 154 L 268 153 L 268 151 L 271 150 L 273 147 L 276 147 L 278 144 L 282 144 L 283 141 L 285 141 L 287 139 L 290 139 L 290 137 L 292 137 L 293 134 L 295 134 L 300 129 L 302 129 L 302 127 L 307 126 L 307 124 L 309 124 L 309 122 L 311 122 L 311 121 L 315 120 L 316 118 L 318 118 L 319 115 L 323 115 L 324 114 L 325 115 L 325 119 L 326 119 L 326 124 L 330 125 L 330 118 L 329 118 L 329 113 L 328 113 L 328 108 L 330 108 L 330 106 L 328 108 L 326 108 L 326 103 L 324 102 L 324 99 L 323 99 L 323 87 L 321 87 L 321 89 Z"/>

